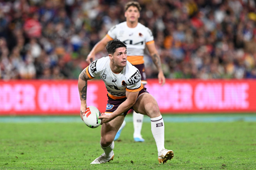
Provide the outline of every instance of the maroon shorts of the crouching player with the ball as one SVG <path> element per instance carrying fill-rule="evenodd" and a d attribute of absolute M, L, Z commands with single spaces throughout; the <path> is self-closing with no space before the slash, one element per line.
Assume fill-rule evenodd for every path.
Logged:
<path fill-rule="evenodd" d="M 142 88 L 140 90 L 138 96 L 141 95 L 142 93 L 148 93 L 147 88 L 145 88 L 145 87 Z M 105 113 L 113 113 L 117 109 L 117 107 L 119 107 L 119 105 L 121 105 L 121 103 L 126 100 L 126 98 L 112 99 L 112 98 L 109 97 L 109 95 L 107 95 L 107 97 L 108 97 L 108 100 L 107 100 L 107 107 L 106 107 Z M 131 107 L 130 109 L 133 109 L 133 107 Z M 126 110 L 126 112 L 123 113 L 124 116 L 126 116 L 127 112 L 130 109 Z"/>

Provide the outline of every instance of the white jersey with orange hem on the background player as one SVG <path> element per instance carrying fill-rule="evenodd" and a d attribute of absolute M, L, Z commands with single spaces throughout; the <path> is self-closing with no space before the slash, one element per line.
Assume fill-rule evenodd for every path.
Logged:
<path fill-rule="evenodd" d="M 113 26 L 107 33 L 110 40 L 118 39 L 127 46 L 127 60 L 133 65 L 143 64 L 145 45 L 154 42 L 151 30 L 141 23 L 129 28 L 126 21 Z"/>

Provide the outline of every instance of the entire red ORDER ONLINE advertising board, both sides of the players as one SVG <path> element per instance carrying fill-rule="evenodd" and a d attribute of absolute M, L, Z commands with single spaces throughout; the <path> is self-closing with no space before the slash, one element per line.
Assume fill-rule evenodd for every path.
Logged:
<path fill-rule="evenodd" d="M 161 113 L 255 112 L 255 80 L 149 79 L 147 91 Z M 107 90 L 101 80 L 88 82 L 87 105 L 105 111 Z M 79 114 L 77 80 L 0 81 L 0 115 Z"/>

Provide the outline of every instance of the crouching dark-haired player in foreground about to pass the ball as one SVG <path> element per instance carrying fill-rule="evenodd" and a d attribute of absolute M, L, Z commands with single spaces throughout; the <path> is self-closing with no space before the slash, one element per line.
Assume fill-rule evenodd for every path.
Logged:
<path fill-rule="evenodd" d="M 138 69 L 127 61 L 126 45 L 119 40 L 111 40 L 106 49 L 109 56 L 90 63 L 78 79 L 82 120 L 87 107 L 88 80 L 100 77 L 108 91 L 107 109 L 99 117 L 102 120 L 100 146 L 104 153 L 91 164 L 106 163 L 114 159 L 114 137 L 131 108 L 150 117 L 158 161 L 166 163 L 173 158 L 173 151 L 164 147 L 164 121 L 156 100 L 142 85 Z"/>

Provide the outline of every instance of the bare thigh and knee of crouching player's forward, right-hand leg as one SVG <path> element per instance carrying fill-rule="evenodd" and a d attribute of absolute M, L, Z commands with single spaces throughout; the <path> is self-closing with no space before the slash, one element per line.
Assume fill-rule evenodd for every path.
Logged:
<path fill-rule="evenodd" d="M 133 109 L 136 112 L 148 115 L 151 118 L 161 115 L 155 98 L 149 93 L 142 94 L 135 102 L 135 105 L 133 105 Z"/>

